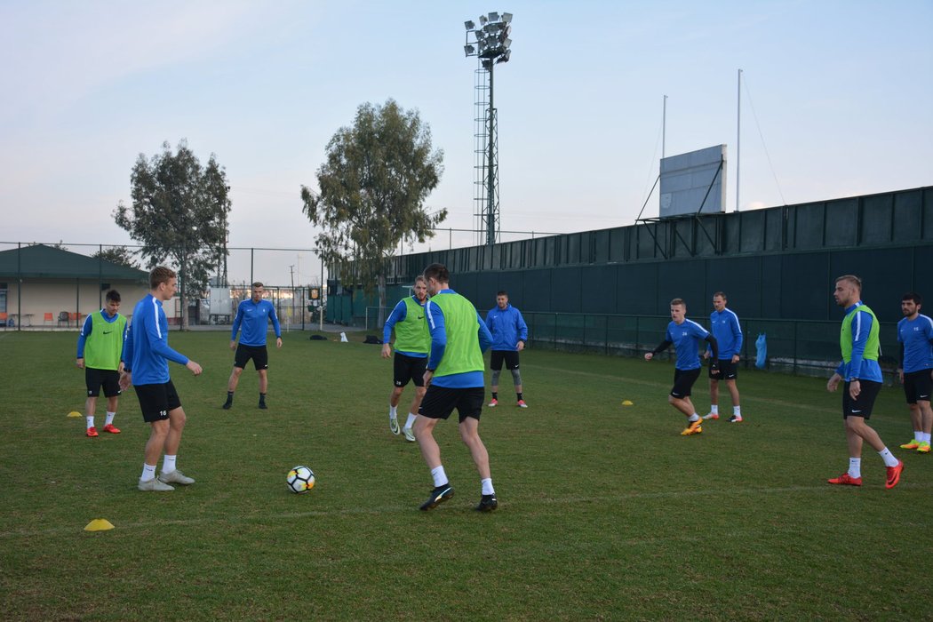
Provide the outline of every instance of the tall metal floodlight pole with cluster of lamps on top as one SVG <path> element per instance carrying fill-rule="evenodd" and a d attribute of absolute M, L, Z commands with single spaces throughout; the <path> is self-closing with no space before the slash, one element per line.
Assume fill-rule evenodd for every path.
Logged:
<path fill-rule="evenodd" d="M 494 92 L 493 92 L 493 67 L 499 62 L 508 62 L 511 57 L 512 40 L 508 38 L 511 33 L 512 14 L 493 12 L 488 15 L 480 15 L 480 27 L 477 28 L 473 21 L 465 21 L 466 26 L 466 44 L 464 52 L 466 56 L 476 56 L 479 58 L 480 66 L 489 75 L 489 102 L 485 108 L 484 131 L 487 136 L 487 145 L 485 146 L 485 174 L 483 179 L 485 184 L 482 186 L 482 192 L 485 193 L 485 205 L 483 206 L 483 224 L 486 230 L 486 244 L 492 246 L 495 243 L 496 228 L 499 220 L 499 202 L 498 187 L 496 185 L 498 177 L 498 153 L 497 141 L 498 126 L 495 120 Z M 475 37 L 473 44 L 469 41 L 470 33 Z M 475 44 L 475 45 L 474 45 Z M 480 86 L 477 87 L 481 89 Z M 479 119 L 478 119 L 479 120 Z M 479 149 L 477 151 L 479 153 Z M 478 188 L 478 191 L 480 188 Z M 479 202 L 479 200 L 478 200 Z"/>

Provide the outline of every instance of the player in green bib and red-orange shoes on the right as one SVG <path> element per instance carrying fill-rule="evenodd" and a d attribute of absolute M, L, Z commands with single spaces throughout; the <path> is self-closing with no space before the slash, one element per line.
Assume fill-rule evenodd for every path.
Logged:
<path fill-rule="evenodd" d="M 833 297 L 836 304 L 845 310 L 839 336 L 842 363 L 829 378 L 826 388 L 831 393 L 841 380 L 844 381 L 842 422 L 849 445 L 849 470 L 827 481 L 836 485 L 861 486 L 862 443 L 867 442 L 884 460 L 884 466 L 887 467 L 884 488 L 890 489 L 898 485 L 904 463 L 894 457 L 884 446 L 881 436 L 868 424 L 875 397 L 881 390 L 881 366 L 878 365 L 881 344 L 878 340 L 878 319 L 861 301 L 861 295 L 862 282 L 858 277 L 846 274 L 836 279 Z"/>

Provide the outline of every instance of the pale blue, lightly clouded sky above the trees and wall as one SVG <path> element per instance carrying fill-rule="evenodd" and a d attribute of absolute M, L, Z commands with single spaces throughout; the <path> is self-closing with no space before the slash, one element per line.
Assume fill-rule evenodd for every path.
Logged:
<path fill-rule="evenodd" d="M 113 211 L 133 162 L 186 139 L 226 168 L 231 246 L 313 247 L 301 185 L 356 107 L 388 98 L 444 152 L 427 209 L 474 228 L 464 21 L 494 10 L 514 16 L 495 69 L 503 229 L 634 224 L 664 95 L 666 154 L 728 145 L 734 210 L 739 69 L 741 209 L 933 185 L 931 0 L 510 2 L 0 0 L 0 241 L 132 243 Z M 319 278 L 312 254 L 260 255 L 256 278 Z M 230 272 L 248 279 L 248 254 Z"/>

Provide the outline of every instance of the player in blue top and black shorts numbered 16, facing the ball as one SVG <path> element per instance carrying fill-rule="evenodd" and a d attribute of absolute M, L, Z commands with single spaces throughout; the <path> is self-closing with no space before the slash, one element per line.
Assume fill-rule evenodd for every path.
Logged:
<path fill-rule="evenodd" d="M 169 323 L 162 303 L 172 299 L 178 280 L 174 270 L 163 266 L 149 272 L 150 291 L 132 310 L 132 323 L 123 346 L 123 374 L 120 388 L 131 384 L 139 398 L 143 421 L 152 426 L 146 441 L 140 491 L 174 491 L 169 484 L 188 486 L 194 479 L 177 468 L 178 447 L 185 430 L 185 409 L 169 377 L 169 361 L 188 367 L 195 376 L 201 366 L 169 347 Z M 159 456 L 165 452 L 162 472 L 156 477 Z"/>

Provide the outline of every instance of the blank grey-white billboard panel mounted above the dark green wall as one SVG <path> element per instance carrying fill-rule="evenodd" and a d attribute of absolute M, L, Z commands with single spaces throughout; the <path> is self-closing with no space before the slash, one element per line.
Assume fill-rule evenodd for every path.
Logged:
<path fill-rule="evenodd" d="M 661 218 L 725 211 L 726 145 L 661 159 Z"/>

